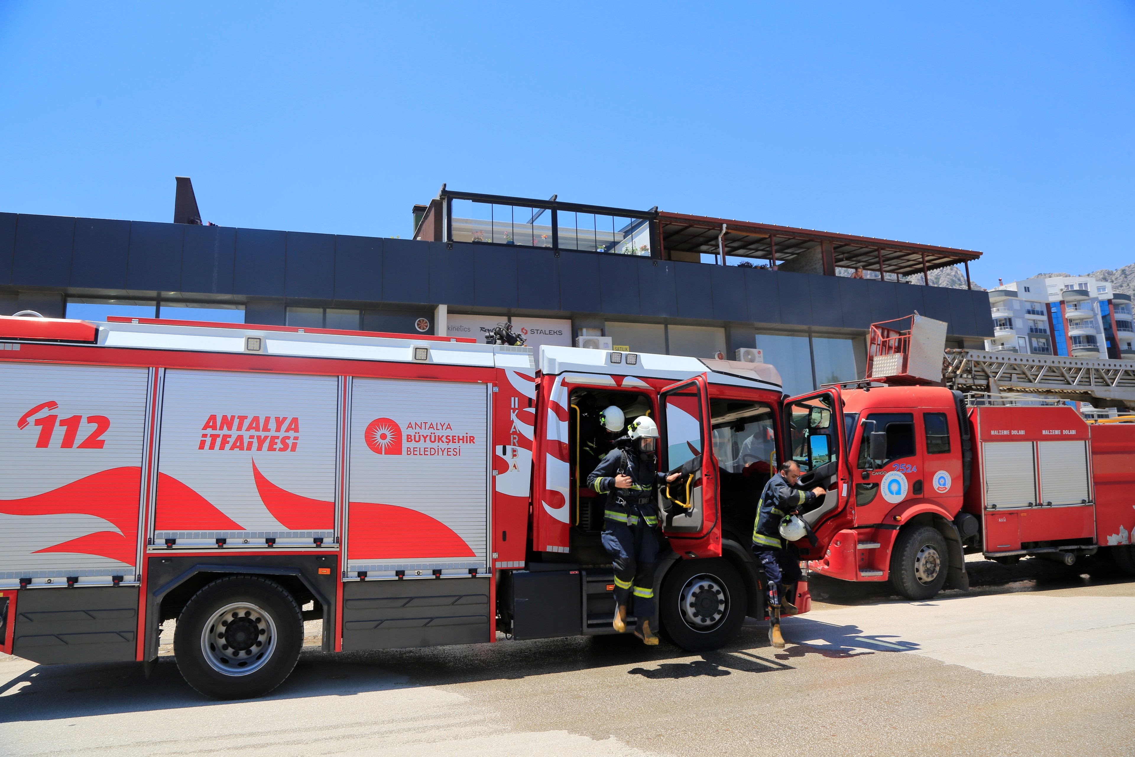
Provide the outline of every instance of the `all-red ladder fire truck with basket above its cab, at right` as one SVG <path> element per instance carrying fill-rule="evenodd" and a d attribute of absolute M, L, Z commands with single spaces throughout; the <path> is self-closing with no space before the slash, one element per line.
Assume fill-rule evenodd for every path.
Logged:
<path fill-rule="evenodd" d="M 944 337 L 917 314 L 876 323 L 867 380 L 787 402 L 787 418 L 838 409 L 825 437 L 790 431 L 791 454 L 839 489 L 821 510 L 851 520 L 810 567 L 910 599 L 967 589 L 973 553 L 1100 554 L 1135 574 L 1135 417 L 1088 422 L 1069 405 L 1135 407 L 1135 364 L 966 350 L 943 364 Z"/>

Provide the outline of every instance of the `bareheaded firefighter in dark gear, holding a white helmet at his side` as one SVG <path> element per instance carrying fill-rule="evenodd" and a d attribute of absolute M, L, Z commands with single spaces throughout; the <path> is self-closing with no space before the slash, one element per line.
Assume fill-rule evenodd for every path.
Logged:
<path fill-rule="evenodd" d="M 768 595 L 768 641 L 777 649 L 784 648 L 784 637 L 780 630 L 781 611 L 785 615 L 796 614 L 792 602 L 797 581 L 800 580 L 800 553 L 791 544 L 796 539 L 788 540 L 783 537 L 781 523 L 799 513 L 800 507 L 825 494 L 824 488 L 818 486 L 812 491 L 797 488 L 799 480 L 800 466 L 796 461 L 782 463 L 780 471 L 768 479 L 760 493 L 757 520 L 753 524 L 753 554 L 760 562 Z M 802 523 L 792 523 L 789 536 L 799 539 L 802 535 L 796 531 L 802 529 Z"/>

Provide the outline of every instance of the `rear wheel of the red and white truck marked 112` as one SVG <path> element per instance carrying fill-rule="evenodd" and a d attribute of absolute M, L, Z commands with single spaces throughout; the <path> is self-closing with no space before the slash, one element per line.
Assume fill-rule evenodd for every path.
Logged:
<path fill-rule="evenodd" d="M 262 578 L 233 575 L 207 584 L 185 605 L 174 632 L 177 668 L 215 699 L 262 697 L 284 682 L 303 646 L 292 595 Z"/>

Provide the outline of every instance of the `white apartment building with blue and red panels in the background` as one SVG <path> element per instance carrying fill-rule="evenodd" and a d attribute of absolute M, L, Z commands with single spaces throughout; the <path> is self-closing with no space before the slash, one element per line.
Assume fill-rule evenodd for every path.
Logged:
<path fill-rule="evenodd" d="M 1087 276 L 1032 278 L 990 291 L 985 348 L 1095 360 L 1135 360 L 1130 295 Z"/>

